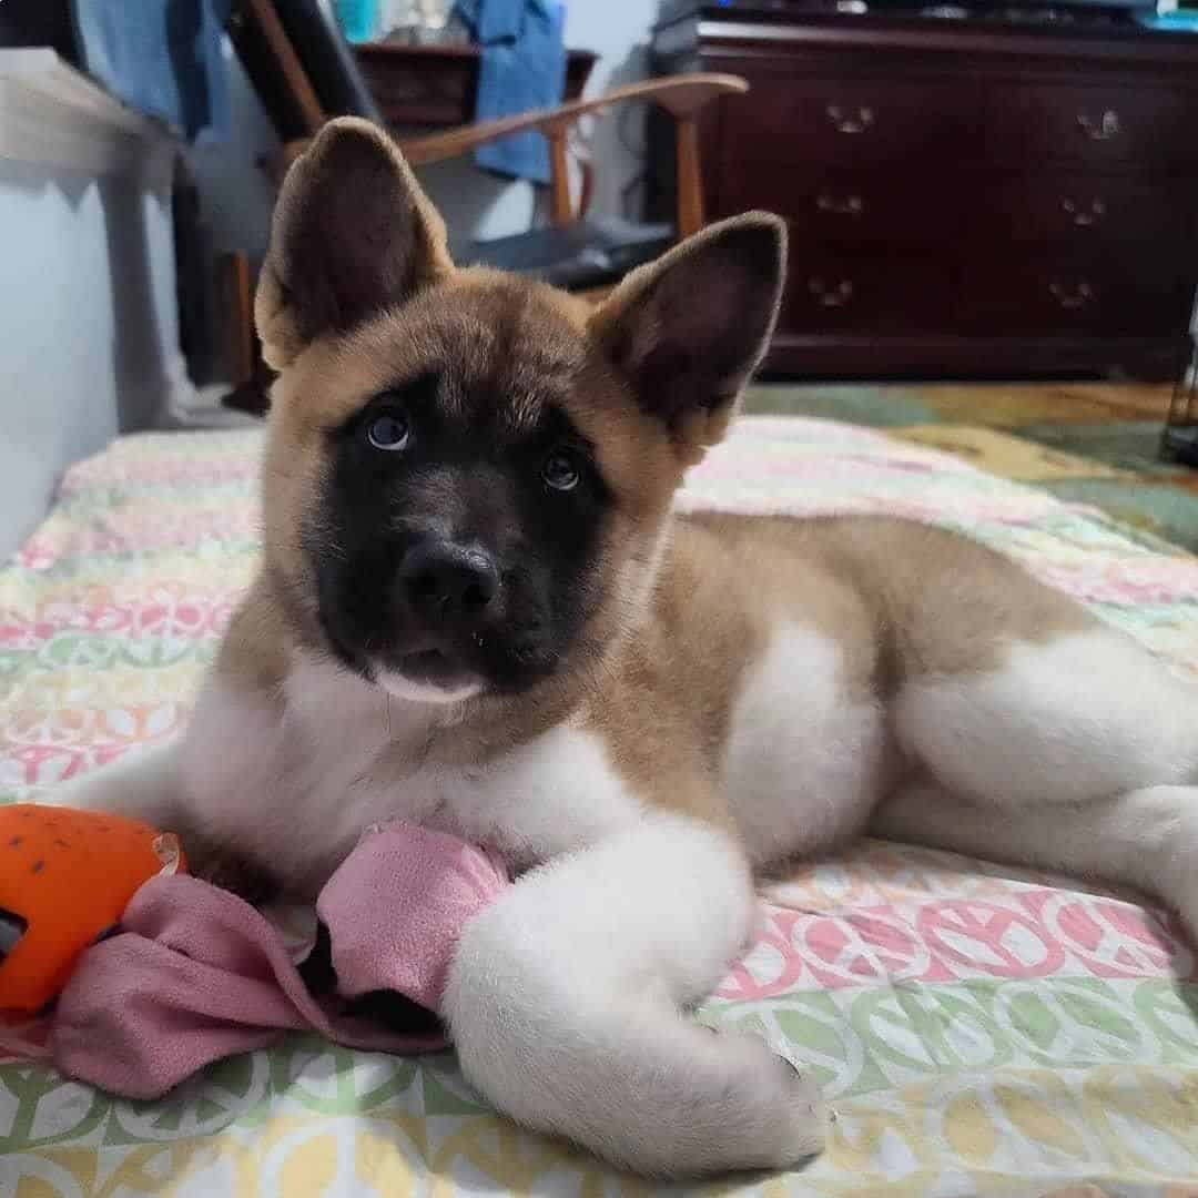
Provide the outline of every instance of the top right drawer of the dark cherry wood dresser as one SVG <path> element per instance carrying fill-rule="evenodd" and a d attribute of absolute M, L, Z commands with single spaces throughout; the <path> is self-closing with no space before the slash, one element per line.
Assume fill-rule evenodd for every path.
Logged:
<path fill-rule="evenodd" d="M 1102 168 L 1143 168 L 1198 157 L 1198 91 L 1163 87 L 993 85 L 986 153 Z"/>

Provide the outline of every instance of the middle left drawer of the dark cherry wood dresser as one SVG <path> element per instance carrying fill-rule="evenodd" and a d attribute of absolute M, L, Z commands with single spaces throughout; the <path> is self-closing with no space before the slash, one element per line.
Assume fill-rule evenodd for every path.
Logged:
<path fill-rule="evenodd" d="M 957 234 L 967 194 L 951 176 L 930 186 L 925 173 L 754 163 L 725 181 L 720 206 L 730 216 L 779 212 L 813 242 L 918 246 Z"/>

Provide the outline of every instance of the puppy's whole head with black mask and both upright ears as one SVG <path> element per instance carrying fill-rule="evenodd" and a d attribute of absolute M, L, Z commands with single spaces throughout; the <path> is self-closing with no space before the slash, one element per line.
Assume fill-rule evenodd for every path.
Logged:
<path fill-rule="evenodd" d="M 256 300 L 267 571 L 296 634 L 393 694 L 583 671 L 653 580 L 683 472 L 769 338 L 783 226 L 715 225 L 599 308 L 458 270 L 375 127 L 288 175 Z"/>

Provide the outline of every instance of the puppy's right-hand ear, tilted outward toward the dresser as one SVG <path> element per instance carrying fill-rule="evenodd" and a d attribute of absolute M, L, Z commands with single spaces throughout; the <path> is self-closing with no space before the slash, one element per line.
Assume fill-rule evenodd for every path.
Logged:
<path fill-rule="evenodd" d="M 629 274 L 589 327 L 665 420 L 686 461 L 719 441 L 769 344 L 786 270 L 786 225 L 749 212 Z"/>

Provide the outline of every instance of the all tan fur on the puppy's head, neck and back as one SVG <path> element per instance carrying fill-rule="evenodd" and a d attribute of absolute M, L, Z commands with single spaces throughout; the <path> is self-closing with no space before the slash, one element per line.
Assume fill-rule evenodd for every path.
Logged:
<path fill-rule="evenodd" d="M 374 395 L 434 368 L 448 368 L 462 391 L 488 385 L 510 397 L 513 419 L 521 404 L 530 418 L 549 398 L 563 404 L 598 449 L 617 513 L 604 547 L 613 582 L 574 667 L 519 698 L 464 704 L 434 726 L 422 744 L 425 760 L 485 760 L 570 720 L 599 732 L 645 801 L 728 825 L 716 779 L 731 712 L 780 618 L 836 643 L 846 694 L 859 697 L 888 695 L 900 676 L 985 670 L 1005 639 L 1088 627 L 1076 605 L 1010 562 L 932 528 L 728 516 L 671 524 L 683 471 L 724 435 L 757 353 L 718 380 L 712 405 L 677 420 L 647 415 L 611 363 L 635 375 L 651 357 L 662 323 L 678 319 L 671 305 L 685 298 L 662 280 L 719 230 L 634 272 L 594 310 L 537 283 L 454 270 L 440 218 L 398 152 L 370 127 L 350 127 L 368 150 L 381 150 L 398 171 L 397 190 L 412 196 L 412 282 L 403 304 L 385 305 L 347 333 L 333 328 L 300 344 L 304 317 L 285 300 L 295 295 L 295 264 L 272 250 L 259 313 L 273 338 L 272 361 L 286 369 L 276 385 L 264 471 L 266 567 L 220 660 L 242 684 L 278 690 L 289 654 L 320 648 L 300 537 L 320 490 L 325 434 Z M 292 171 L 274 246 L 289 244 L 295 196 L 319 190 L 329 155 L 317 139 Z M 755 219 L 762 218 L 746 218 Z M 778 295 L 767 302 L 768 329 Z"/>

